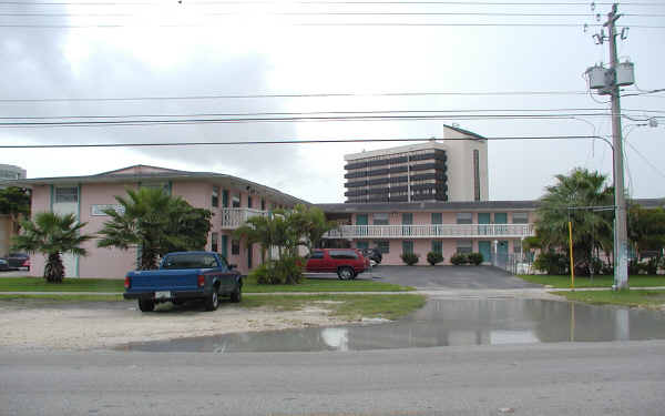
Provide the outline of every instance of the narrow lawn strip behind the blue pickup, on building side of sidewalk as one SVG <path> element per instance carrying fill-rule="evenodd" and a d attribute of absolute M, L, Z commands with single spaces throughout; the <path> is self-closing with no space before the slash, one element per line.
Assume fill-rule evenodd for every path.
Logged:
<path fill-rule="evenodd" d="M 299 285 L 259 285 L 245 278 L 244 293 L 274 292 L 406 292 L 413 287 L 367 280 L 306 278 Z M 0 292 L 124 292 L 121 278 L 65 278 L 63 283 L 47 283 L 42 277 L 2 277 Z"/>

